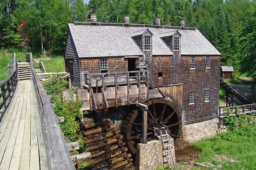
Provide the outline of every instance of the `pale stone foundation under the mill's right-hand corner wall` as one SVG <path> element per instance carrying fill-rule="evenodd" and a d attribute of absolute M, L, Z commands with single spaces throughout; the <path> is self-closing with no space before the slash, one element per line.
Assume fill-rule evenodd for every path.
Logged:
<path fill-rule="evenodd" d="M 181 140 L 178 145 L 191 145 L 207 137 L 214 136 L 218 131 L 218 119 L 211 119 L 204 122 L 194 123 L 182 126 Z"/>

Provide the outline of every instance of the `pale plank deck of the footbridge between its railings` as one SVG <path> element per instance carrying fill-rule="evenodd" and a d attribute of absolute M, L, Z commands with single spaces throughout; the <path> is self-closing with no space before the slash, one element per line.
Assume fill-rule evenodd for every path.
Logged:
<path fill-rule="evenodd" d="M 41 116 L 32 80 L 18 81 L 0 123 L 0 169 L 48 169 Z"/>

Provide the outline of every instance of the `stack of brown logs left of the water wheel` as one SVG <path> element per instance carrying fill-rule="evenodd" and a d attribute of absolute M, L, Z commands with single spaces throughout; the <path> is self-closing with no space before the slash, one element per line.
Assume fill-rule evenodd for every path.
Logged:
<path fill-rule="evenodd" d="M 103 118 L 100 125 L 92 118 L 80 122 L 85 146 L 84 152 L 91 152 L 93 166 L 90 169 L 131 169 L 131 154 L 127 153 L 124 137 L 116 130 L 110 119 Z"/>

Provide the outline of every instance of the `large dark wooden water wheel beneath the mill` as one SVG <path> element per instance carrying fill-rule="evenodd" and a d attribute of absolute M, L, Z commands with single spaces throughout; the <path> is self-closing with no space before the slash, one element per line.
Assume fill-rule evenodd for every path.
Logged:
<path fill-rule="evenodd" d="M 174 139 L 179 137 L 181 116 L 178 108 L 165 98 L 156 98 L 145 102 L 149 106 L 147 113 L 147 141 L 157 139 L 159 129 L 167 126 L 167 131 Z M 133 110 L 125 119 L 123 134 L 133 154 L 137 144 L 142 143 L 142 110 Z"/>

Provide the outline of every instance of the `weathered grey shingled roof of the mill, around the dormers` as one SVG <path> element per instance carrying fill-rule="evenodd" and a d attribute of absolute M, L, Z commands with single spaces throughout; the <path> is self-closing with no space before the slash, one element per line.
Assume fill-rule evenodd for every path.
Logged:
<path fill-rule="evenodd" d="M 171 26 L 142 24 L 74 23 L 69 30 L 78 56 L 137 56 L 143 55 L 132 36 L 148 29 L 152 35 L 152 55 L 173 55 L 160 37 L 181 34 L 181 55 L 220 55 L 216 48 L 197 30 Z"/>

